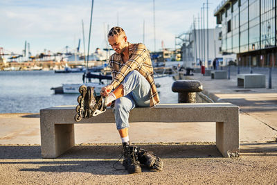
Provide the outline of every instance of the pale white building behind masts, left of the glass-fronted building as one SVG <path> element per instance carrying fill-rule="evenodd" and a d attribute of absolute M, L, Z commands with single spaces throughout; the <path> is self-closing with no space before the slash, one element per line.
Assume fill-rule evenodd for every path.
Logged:
<path fill-rule="evenodd" d="M 219 37 L 221 28 L 191 29 L 186 33 L 186 37 L 181 46 L 181 55 L 184 67 L 199 67 L 200 60 L 202 65 L 211 68 L 215 58 L 222 60 L 221 40 Z M 208 38 L 207 38 L 208 32 Z M 207 53 L 208 42 L 208 53 Z"/>

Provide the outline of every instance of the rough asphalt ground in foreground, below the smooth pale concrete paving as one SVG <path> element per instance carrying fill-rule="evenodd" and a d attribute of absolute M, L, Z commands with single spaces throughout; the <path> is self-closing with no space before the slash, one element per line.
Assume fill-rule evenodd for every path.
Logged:
<path fill-rule="evenodd" d="M 223 158 L 211 143 L 146 145 L 164 170 L 129 175 L 112 166 L 120 146 L 77 146 L 57 159 L 41 159 L 39 146 L 1 146 L 1 184 L 276 184 L 276 144 L 242 146 Z M 116 165 L 116 168 L 122 166 Z"/>

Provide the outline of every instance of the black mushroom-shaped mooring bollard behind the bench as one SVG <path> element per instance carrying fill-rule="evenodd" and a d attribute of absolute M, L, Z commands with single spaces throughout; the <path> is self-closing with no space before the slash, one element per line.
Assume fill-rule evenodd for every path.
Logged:
<path fill-rule="evenodd" d="M 178 93 L 178 103 L 196 103 L 196 93 L 203 90 L 199 80 L 177 80 L 171 87 Z"/>

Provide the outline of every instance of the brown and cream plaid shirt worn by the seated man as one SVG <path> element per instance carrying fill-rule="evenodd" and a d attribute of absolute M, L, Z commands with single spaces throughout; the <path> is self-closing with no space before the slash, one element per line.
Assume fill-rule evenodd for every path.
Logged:
<path fill-rule="evenodd" d="M 146 49 L 145 45 L 141 43 L 128 44 L 129 60 L 125 62 L 125 64 L 118 53 L 114 53 L 109 58 L 109 67 L 111 68 L 113 79 L 111 85 L 115 89 L 130 71 L 139 71 L 139 73 L 141 73 L 151 85 L 150 107 L 154 107 L 160 102 L 160 100 L 157 87 L 154 83 L 153 67 L 148 49 Z"/>

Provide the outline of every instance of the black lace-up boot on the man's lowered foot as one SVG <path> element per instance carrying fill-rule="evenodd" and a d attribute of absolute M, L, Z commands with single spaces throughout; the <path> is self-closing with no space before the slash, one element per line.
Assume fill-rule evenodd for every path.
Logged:
<path fill-rule="evenodd" d="M 140 173 L 141 166 L 138 161 L 137 147 L 129 146 L 128 144 L 123 144 L 123 166 L 129 173 Z"/>

